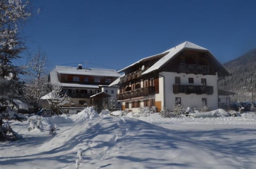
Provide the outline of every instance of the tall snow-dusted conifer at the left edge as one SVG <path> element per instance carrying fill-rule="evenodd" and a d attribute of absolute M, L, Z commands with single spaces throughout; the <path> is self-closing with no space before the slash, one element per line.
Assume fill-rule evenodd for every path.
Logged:
<path fill-rule="evenodd" d="M 25 49 L 19 28 L 31 16 L 28 11 L 28 2 L 0 1 L 0 141 L 19 139 L 8 121 L 25 119 L 12 110 L 15 105 L 13 99 L 19 97 L 17 75 L 21 72 L 18 66 L 13 65 L 13 60 L 19 58 Z"/>

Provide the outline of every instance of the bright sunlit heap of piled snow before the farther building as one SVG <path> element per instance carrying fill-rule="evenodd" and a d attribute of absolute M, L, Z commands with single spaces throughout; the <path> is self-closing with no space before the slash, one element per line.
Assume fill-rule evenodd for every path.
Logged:
<path fill-rule="evenodd" d="M 93 119 L 95 117 L 99 117 L 99 114 L 94 111 L 93 107 L 86 107 L 82 112 L 69 116 L 69 118 L 76 123 Z"/>

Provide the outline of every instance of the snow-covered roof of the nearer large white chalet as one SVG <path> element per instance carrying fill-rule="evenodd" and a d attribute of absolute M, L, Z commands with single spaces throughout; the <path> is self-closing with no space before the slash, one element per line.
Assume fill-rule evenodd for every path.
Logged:
<path fill-rule="evenodd" d="M 147 69 L 145 72 L 142 73 L 143 74 L 147 74 L 149 72 L 152 72 L 154 70 L 159 69 L 160 67 L 162 67 L 166 62 L 168 62 L 173 56 L 175 56 L 176 54 L 178 54 L 181 50 L 183 49 L 196 49 L 196 50 L 207 50 L 208 49 L 198 46 L 196 44 L 190 43 L 189 41 L 185 41 L 184 43 L 175 46 L 169 50 L 166 50 L 163 53 L 167 53 L 167 55 L 165 55 L 164 57 L 162 57 L 161 59 L 159 59 L 154 65 L 152 65 L 151 67 L 149 67 L 149 69 Z"/>

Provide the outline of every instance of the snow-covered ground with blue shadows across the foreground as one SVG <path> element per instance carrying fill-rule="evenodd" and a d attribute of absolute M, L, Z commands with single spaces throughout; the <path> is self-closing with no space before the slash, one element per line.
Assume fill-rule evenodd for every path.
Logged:
<path fill-rule="evenodd" d="M 25 139 L 0 143 L 0 168 L 256 168 L 255 113 L 132 116 L 86 108 L 70 116 L 30 117 L 42 122 L 43 131 L 28 131 L 29 121 L 12 122 Z"/>

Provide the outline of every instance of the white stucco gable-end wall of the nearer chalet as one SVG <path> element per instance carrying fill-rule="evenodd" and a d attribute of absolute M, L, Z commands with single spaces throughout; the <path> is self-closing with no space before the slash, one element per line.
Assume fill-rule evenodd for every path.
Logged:
<path fill-rule="evenodd" d="M 202 75 L 202 74 L 186 74 L 186 73 L 174 73 L 174 72 L 161 72 L 164 78 L 164 85 L 165 85 L 165 107 L 170 109 L 173 108 L 175 105 L 175 97 L 181 98 L 181 104 L 183 107 L 190 107 L 190 108 L 201 108 L 203 106 L 202 98 L 207 98 L 207 106 L 209 109 L 217 109 L 218 108 L 218 76 L 217 75 Z M 173 85 L 175 84 L 175 77 L 180 77 L 180 84 L 181 85 L 202 85 L 201 78 L 206 79 L 207 86 L 213 86 L 213 95 L 197 95 L 197 94 L 174 94 L 173 93 Z M 163 80 L 159 76 L 159 96 L 157 98 L 161 98 L 163 95 L 162 92 L 162 84 Z M 194 78 L 194 83 L 188 83 L 188 78 Z M 161 96 L 162 95 L 162 96 Z M 164 100 L 164 99 L 163 99 Z M 164 103 L 162 103 L 163 105 Z M 163 105 L 164 106 L 164 105 Z"/>

